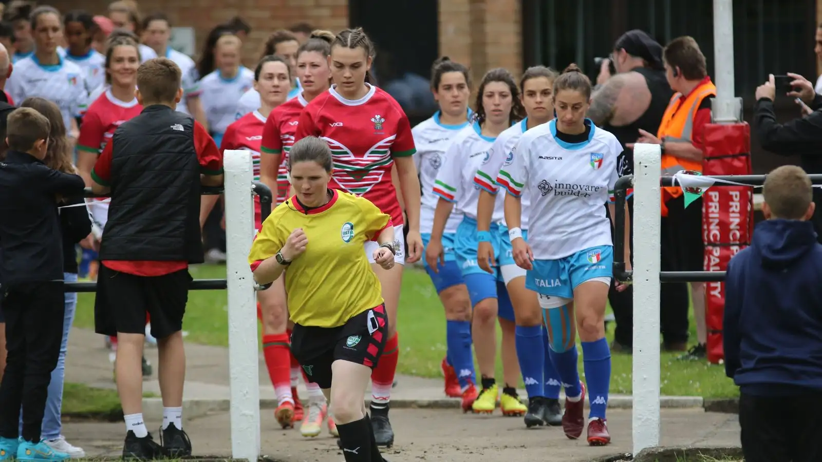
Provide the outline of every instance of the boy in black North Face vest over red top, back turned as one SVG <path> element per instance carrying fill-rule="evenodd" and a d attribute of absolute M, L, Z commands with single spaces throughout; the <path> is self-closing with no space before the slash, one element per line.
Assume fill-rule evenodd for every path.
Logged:
<path fill-rule="evenodd" d="M 200 187 L 222 186 L 223 155 L 199 122 L 174 110 L 182 98 L 180 67 L 154 58 L 137 69 L 140 115 L 123 122 L 99 155 L 92 189 L 111 192 L 100 243 L 95 330 L 117 335 L 114 365 L 126 421 L 124 459 L 192 454 L 182 430 L 189 263 L 202 263 Z M 163 386 L 162 443 L 142 415 L 145 315 L 157 339 Z"/>

